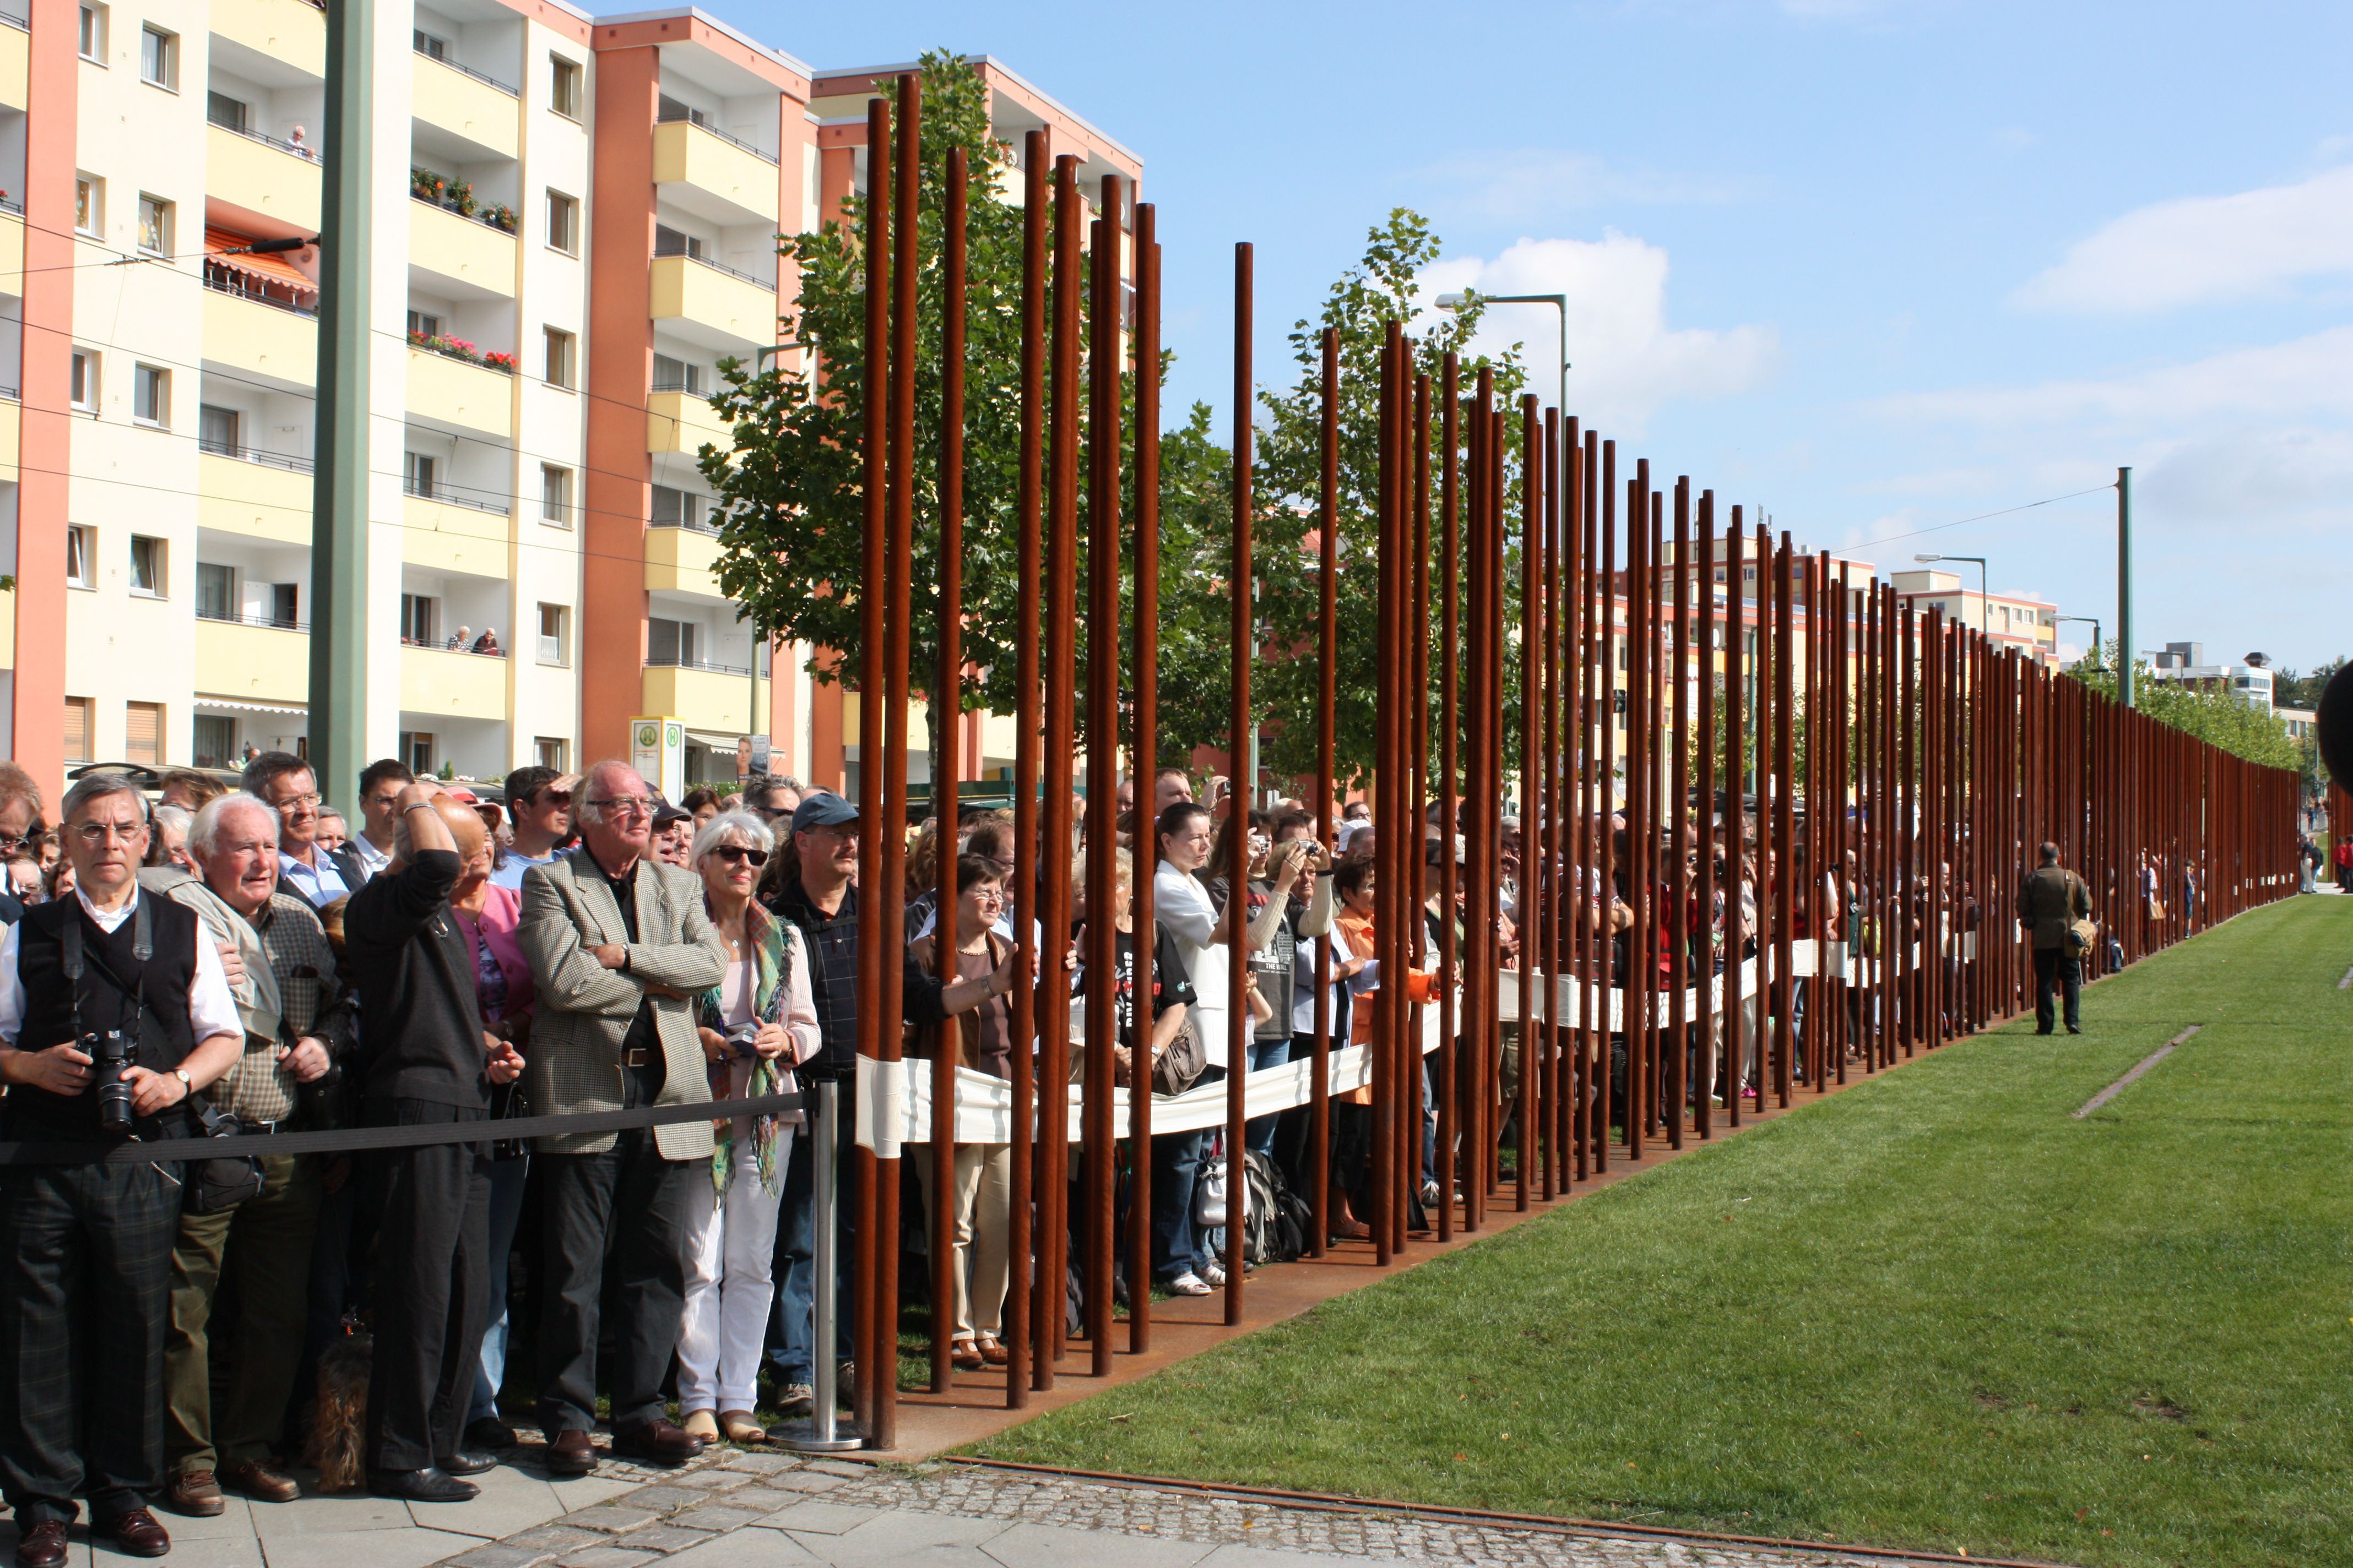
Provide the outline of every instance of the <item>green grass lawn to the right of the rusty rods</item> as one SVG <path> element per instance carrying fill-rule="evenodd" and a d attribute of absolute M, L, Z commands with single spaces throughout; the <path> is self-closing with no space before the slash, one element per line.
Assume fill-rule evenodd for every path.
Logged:
<path fill-rule="evenodd" d="M 2353 1563 L 2353 898 L 972 1453 L 2073 1563 Z M 2205 1030 L 2085 1121 L 2071 1112 Z"/>

